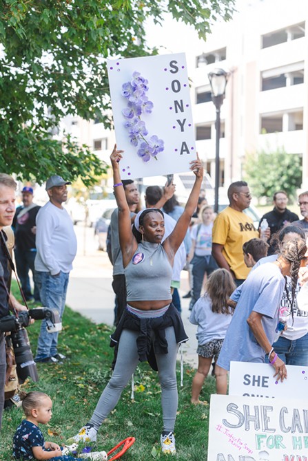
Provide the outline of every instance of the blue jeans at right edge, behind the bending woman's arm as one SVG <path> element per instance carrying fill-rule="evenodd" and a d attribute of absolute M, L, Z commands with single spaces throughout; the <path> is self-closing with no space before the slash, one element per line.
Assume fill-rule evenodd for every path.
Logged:
<path fill-rule="evenodd" d="M 273 347 L 286 365 L 308 366 L 308 333 L 301 338 L 294 339 L 294 341 L 280 336 Z M 269 363 L 267 356 L 266 362 Z"/>

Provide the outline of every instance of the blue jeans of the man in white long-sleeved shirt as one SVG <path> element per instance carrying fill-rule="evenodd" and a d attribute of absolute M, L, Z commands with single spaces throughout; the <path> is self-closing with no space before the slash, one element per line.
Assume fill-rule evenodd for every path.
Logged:
<path fill-rule="evenodd" d="M 44 308 L 56 309 L 62 319 L 65 308 L 66 290 L 70 273 L 60 272 L 59 275 L 50 275 L 50 272 L 35 271 L 41 303 Z M 48 333 L 45 319 L 41 323 L 41 332 L 37 343 L 37 361 L 57 354 L 58 334 Z"/>

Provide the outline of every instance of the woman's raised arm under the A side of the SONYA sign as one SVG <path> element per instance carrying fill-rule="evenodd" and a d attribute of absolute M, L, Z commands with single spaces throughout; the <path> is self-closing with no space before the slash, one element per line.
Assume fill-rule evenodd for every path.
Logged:
<path fill-rule="evenodd" d="M 195 208 L 198 203 L 198 197 L 201 189 L 201 184 L 203 180 L 203 166 L 201 160 L 197 157 L 197 160 L 193 160 L 191 163 L 190 169 L 194 171 L 196 175 L 194 186 L 192 188 L 191 193 L 189 194 L 186 206 L 181 217 L 178 218 L 178 222 L 174 227 L 174 230 L 170 234 L 163 246 L 165 251 L 169 255 L 170 258 L 173 258 L 176 250 L 183 242 L 183 239 L 187 233 L 188 226 L 190 224 L 190 220 L 192 219 L 192 215 L 194 214 Z"/>

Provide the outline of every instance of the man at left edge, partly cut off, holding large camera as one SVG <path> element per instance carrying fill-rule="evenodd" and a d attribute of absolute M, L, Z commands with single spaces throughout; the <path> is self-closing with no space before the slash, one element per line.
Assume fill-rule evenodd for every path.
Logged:
<path fill-rule="evenodd" d="M 8 315 L 11 310 L 27 310 L 21 305 L 10 291 L 10 270 L 8 268 L 8 249 L 6 241 L 8 239 L 3 227 L 11 226 L 15 213 L 15 191 L 17 184 L 13 178 L 4 173 L 0 173 L 0 264 L 3 268 L 0 275 L 0 320 Z M 10 228 L 9 228 L 10 230 Z M 3 275 L 2 275 L 3 272 Z M 4 333 L 0 332 L 0 428 L 2 411 L 4 405 L 4 386 L 6 380 L 6 347 Z"/>

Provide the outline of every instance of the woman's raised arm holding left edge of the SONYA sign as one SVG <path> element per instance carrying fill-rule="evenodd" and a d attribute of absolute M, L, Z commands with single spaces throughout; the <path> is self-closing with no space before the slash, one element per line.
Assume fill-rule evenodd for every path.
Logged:
<path fill-rule="evenodd" d="M 114 177 L 114 196 L 116 197 L 116 204 L 119 210 L 119 240 L 123 256 L 123 266 L 125 267 L 130 262 L 130 259 L 132 259 L 132 255 L 138 245 L 132 233 L 130 208 L 127 204 L 124 187 L 121 182 L 119 162 L 122 159 L 122 152 L 118 151 L 116 144 L 114 144 L 110 160 Z"/>

